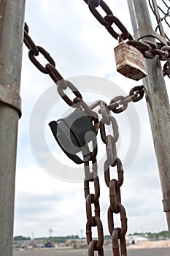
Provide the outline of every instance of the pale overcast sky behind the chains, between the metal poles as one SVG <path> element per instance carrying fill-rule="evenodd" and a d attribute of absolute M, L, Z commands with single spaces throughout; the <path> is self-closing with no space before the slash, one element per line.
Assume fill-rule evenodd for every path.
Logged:
<path fill-rule="evenodd" d="M 106 2 L 114 15 L 133 34 L 126 1 L 107 0 Z M 155 20 L 153 21 L 155 22 Z M 106 29 L 97 22 L 84 1 L 27 0 L 26 22 L 36 45 L 41 45 L 50 52 L 53 59 L 55 59 L 58 71 L 61 72 L 64 78 L 77 76 L 107 78 L 107 80 L 116 83 L 126 93 L 132 87 L 142 84 L 142 81 L 129 80 L 116 72 L 113 48 L 117 46 L 117 40 L 113 39 Z M 82 181 L 63 181 L 63 177 L 55 178 L 50 175 L 47 172 L 48 170 L 45 170 L 42 166 L 42 163 L 34 157 L 35 151 L 30 143 L 29 127 L 34 105 L 39 102 L 39 97 L 47 94 L 47 90 L 51 86 L 53 86 L 52 80 L 31 64 L 28 59 L 28 50 L 23 46 L 20 89 L 23 116 L 20 118 L 18 131 L 15 236 L 32 236 L 32 233 L 34 233 L 34 237 L 49 236 L 50 228 L 53 230 L 53 236 L 72 234 L 80 236 L 80 230 L 83 230 L 83 236 L 85 236 L 85 198 Z M 88 101 L 90 101 L 90 97 L 94 100 L 98 97 L 103 99 L 106 94 L 108 96 L 107 86 L 106 89 L 101 91 L 97 88 L 96 84 L 94 86 L 92 84 L 93 96 L 88 94 L 87 89 L 83 97 L 88 97 Z M 168 87 L 167 89 L 169 90 Z M 110 98 L 115 96 L 115 91 L 109 91 Z M 57 91 L 56 99 L 58 99 Z M 50 102 L 50 100 L 52 99 L 47 97 L 47 102 Z M 67 105 L 61 102 L 59 104 L 61 104 L 60 107 L 55 108 L 55 110 L 52 109 L 52 113 L 49 110 L 45 123 L 45 138 L 47 144 L 50 143 L 48 146 L 53 143 L 53 155 L 56 159 L 61 158 L 61 163 L 64 162 L 66 165 L 65 171 L 69 173 L 69 165 L 72 165 L 72 163 L 61 153 L 60 148 L 50 134 L 50 129 L 47 127 L 47 121 L 52 120 L 51 118 L 57 120 L 58 117 L 64 116 L 64 113 L 68 110 Z M 131 159 L 131 165 L 125 166 L 125 181 L 121 189 L 123 205 L 128 216 L 128 233 L 167 230 L 145 99 L 136 104 L 131 103 L 131 105 L 133 105 L 131 108 L 133 108 L 133 111 L 136 110 L 136 116 L 139 118 L 140 133 L 139 147 L 136 148 L 135 157 Z M 37 118 L 41 118 L 45 114 L 43 109 L 42 106 L 42 111 Z M 130 143 L 128 134 L 131 124 L 127 126 L 127 129 L 123 125 L 125 119 L 128 118 L 125 114 L 115 117 L 120 126 L 120 155 L 124 156 L 123 148 L 128 148 Z M 134 123 L 136 123 L 136 120 L 134 120 Z M 34 124 L 36 130 L 35 118 Z M 31 132 L 33 129 L 31 127 Z M 42 139 L 39 133 L 37 133 L 37 137 L 39 137 L 39 140 Z M 41 151 L 41 148 L 39 148 L 39 151 Z M 44 155 L 44 159 L 46 157 Z M 117 177 L 113 176 L 113 178 Z M 100 182 L 101 220 L 104 225 L 104 234 L 107 235 L 109 234 L 107 229 L 109 190 L 104 184 L 102 174 L 100 175 Z M 118 225 L 119 217 L 115 219 L 115 222 L 115 225 Z M 93 230 L 93 234 L 96 234 L 96 229 Z"/>

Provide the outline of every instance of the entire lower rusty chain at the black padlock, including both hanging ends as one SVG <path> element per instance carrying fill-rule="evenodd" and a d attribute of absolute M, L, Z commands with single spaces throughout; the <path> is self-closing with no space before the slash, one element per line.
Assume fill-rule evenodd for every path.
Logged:
<path fill-rule="evenodd" d="M 82 108 L 85 113 L 91 117 L 93 121 L 93 126 L 100 129 L 101 140 L 103 140 L 106 145 L 107 160 L 104 163 L 104 178 L 109 187 L 109 197 L 110 206 L 108 209 L 108 227 L 109 233 L 112 235 L 112 249 L 115 256 L 126 255 L 126 245 L 125 245 L 125 233 L 127 230 L 127 218 L 125 214 L 125 208 L 121 204 L 120 187 L 123 184 L 123 167 L 119 158 L 117 158 L 116 142 L 118 140 L 118 127 L 117 121 L 111 115 L 111 113 L 123 112 L 127 107 L 129 102 L 137 102 L 144 96 L 144 87 L 136 86 L 129 92 L 128 96 L 118 96 L 109 102 L 98 100 L 93 103 L 90 107 L 83 101 L 82 94 L 80 91 L 68 80 L 63 80 L 63 77 L 55 68 L 55 61 L 50 56 L 47 51 L 36 46 L 34 41 L 28 35 L 28 26 L 25 24 L 24 30 L 24 42 L 29 50 L 28 56 L 31 62 L 39 69 L 42 73 L 50 75 L 50 78 L 57 84 L 58 94 L 61 98 L 72 108 Z M 36 56 L 41 53 L 48 63 L 45 67 L 36 59 Z M 167 69 L 167 67 L 166 67 Z M 74 94 L 75 98 L 70 99 L 64 92 L 66 89 L 70 89 Z M 99 105 L 98 112 L 101 113 L 101 121 L 98 121 L 98 115 L 93 108 Z M 112 125 L 113 135 L 106 135 L 106 126 Z M 99 256 L 104 256 L 104 233 L 103 226 L 100 219 L 100 185 L 97 172 L 97 140 L 93 140 L 93 152 L 91 154 L 92 171 L 90 171 L 90 162 L 85 162 L 85 181 L 84 190 L 86 198 L 86 234 L 88 243 L 88 255 L 93 256 L 94 252 L 97 251 Z M 110 179 L 110 167 L 117 167 L 118 178 Z M 90 183 L 93 182 L 94 194 L 90 193 Z M 92 206 L 94 206 L 94 215 L 92 214 Z M 115 227 L 114 225 L 114 214 L 120 214 L 121 228 Z M 92 227 L 97 227 L 98 238 L 93 240 Z M 120 249 L 119 249 L 120 241 Z"/>

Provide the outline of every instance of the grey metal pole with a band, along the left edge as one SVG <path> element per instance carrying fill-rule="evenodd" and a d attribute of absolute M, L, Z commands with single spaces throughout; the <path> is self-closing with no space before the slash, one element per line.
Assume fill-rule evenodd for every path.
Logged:
<path fill-rule="evenodd" d="M 0 1 L 0 255 L 12 255 L 25 0 Z"/>

